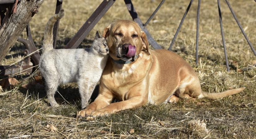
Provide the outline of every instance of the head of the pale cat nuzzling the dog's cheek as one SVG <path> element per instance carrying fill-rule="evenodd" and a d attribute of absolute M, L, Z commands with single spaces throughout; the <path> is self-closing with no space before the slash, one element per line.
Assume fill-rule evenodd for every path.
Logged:
<path fill-rule="evenodd" d="M 92 43 L 92 48 L 99 54 L 107 55 L 109 53 L 109 48 L 104 37 L 102 37 L 99 32 L 96 32 L 95 39 Z"/>

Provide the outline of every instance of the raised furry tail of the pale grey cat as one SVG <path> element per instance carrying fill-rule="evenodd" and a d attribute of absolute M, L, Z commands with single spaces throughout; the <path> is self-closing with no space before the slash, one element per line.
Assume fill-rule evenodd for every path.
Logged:
<path fill-rule="evenodd" d="M 58 14 L 53 15 L 46 24 L 43 38 L 43 50 L 42 54 L 53 49 L 53 25 L 54 23 L 64 16 L 64 10 L 61 10 Z"/>

